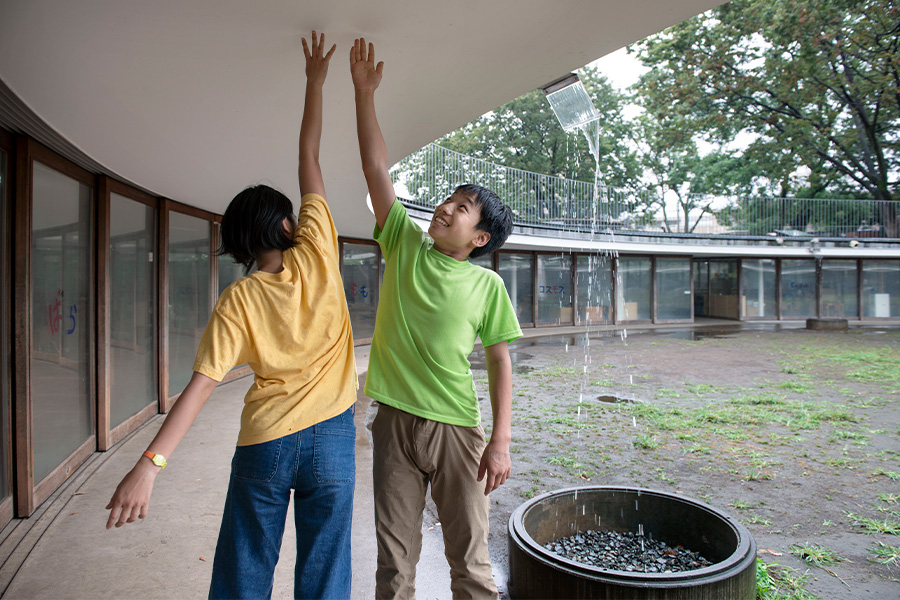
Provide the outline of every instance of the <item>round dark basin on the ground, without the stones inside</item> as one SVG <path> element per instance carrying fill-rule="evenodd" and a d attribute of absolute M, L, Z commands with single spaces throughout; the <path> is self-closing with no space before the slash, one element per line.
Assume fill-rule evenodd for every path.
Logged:
<path fill-rule="evenodd" d="M 590 529 L 641 529 L 713 564 L 679 573 L 614 571 L 544 548 Z M 756 543 L 734 518 L 679 494 L 612 486 L 556 490 L 529 500 L 509 519 L 509 592 L 512 598 L 753 600 Z"/>

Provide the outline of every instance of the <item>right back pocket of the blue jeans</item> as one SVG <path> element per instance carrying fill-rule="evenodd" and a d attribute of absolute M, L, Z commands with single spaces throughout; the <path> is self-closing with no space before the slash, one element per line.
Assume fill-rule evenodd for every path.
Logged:
<path fill-rule="evenodd" d="M 313 475 L 319 483 L 352 483 L 356 480 L 354 408 L 313 426 Z"/>

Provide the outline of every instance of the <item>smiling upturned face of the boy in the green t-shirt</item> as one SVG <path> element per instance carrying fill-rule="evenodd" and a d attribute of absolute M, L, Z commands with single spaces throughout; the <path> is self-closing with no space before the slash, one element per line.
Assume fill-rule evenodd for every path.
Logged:
<path fill-rule="evenodd" d="M 456 260 L 465 260 L 472 250 L 491 239 L 491 234 L 476 228 L 480 220 L 481 207 L 475 204 L 472 196 L 454 192 L 434 209 L 428 235 L 439 252 Z"/>

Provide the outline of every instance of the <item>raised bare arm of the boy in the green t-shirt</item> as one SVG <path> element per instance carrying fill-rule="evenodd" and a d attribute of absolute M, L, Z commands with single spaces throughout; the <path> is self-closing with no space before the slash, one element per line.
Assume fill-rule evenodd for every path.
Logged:
<path fill-rule="evenodd" d="M 375 90 L 381 83 L 383 68 L 384 62 L 375 63 L 375 45 L 370 43 L 366 48 L 366 39 L 358 38 L 350 49 L 350 75 L 356 97 L 356 135 L 375 221 L 381 228 L 394 205 L 387 146 L 375 117 Z"/>

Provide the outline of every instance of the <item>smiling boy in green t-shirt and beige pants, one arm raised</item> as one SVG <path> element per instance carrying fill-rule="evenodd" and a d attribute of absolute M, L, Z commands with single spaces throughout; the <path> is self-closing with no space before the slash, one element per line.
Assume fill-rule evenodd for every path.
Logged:
<path fill-rule="evenodd" d="M 369 356 L 373 423 L 376 598 L 415 595 L 425 492 L 438 509 L 454 597 L 496 597 L 488 555 L 487 495 L 510 475 L 512 369 L 508 342 L 522 335 L 503 280 L 472 265 L 506 241 L 512 214 L 480 186 L 458 187 L 434 211 L 430 238 L 395 201 L 375 117 L 383 63 L 356 40 L 350 72 L 363 172 L 385 273 Z M 467 356 L 481 338 L 493 431 L 485 444 Z M 484 480 L 484 483 L 479 483 Z"/>

